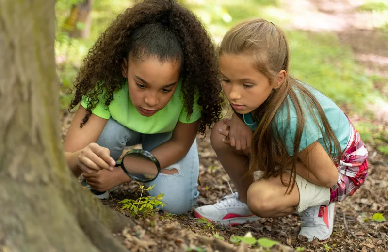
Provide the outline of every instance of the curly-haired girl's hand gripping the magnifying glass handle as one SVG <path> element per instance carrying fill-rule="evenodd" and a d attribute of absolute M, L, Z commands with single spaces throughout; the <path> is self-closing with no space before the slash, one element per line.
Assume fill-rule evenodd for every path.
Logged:
<path fill-rule="evenodd" d="M 109 155 L 109 149 L 92 142 L 78 155 L 78 167 L 88 174 L 98 173 L 102 169 L 113 171 L 116 162 Z"/>

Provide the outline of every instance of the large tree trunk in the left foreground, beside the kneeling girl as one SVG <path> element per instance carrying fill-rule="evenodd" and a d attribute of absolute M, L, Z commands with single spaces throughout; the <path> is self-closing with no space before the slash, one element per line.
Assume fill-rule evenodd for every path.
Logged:
<path fill-rule="evenodd" d="M 0 8 L 0 248 L 124 252 L 112 236 L 129 218 L 82 189 L 60 141 L 54 0 Z"/>

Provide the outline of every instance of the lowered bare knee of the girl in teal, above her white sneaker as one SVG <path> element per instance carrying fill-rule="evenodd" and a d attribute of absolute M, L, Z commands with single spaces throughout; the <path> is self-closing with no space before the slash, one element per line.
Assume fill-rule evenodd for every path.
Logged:
<path fill-rule="evenodd" d="M 270 218 L 274 215 L 273 200 L 274 195 L 271 195 L 270 188 L 260 181 L 254 182 L 248 189 L 248 208 L 253 214 L 261 218 Z"/>

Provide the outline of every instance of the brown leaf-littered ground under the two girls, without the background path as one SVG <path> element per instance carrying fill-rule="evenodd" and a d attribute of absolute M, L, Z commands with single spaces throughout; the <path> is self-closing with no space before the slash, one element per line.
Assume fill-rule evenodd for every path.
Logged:
<path fill-rule="evenodd" d="M 71 118 L 72 114 L 64 113 L 62 118 L 63 137 Z M 202 136 L 197 137 L 200 155 L 198 206 L 215 203 L 225 195 L 230 194 L 227 184 L 229 178 L 211 148 L 210 132 L 207 133 L 205 139 Z M 292 248 L 304 247 L 305 251 L 388 251 L 388 221 L 376 222 L 372 220 L 375 213 L 383 213 L 385 217 L 388 217 L 388 158 L 375 152 L 375 146 L 368 146 L 368 149 L 371 153 L 369 176 L 365 184 L 352 197 L 336 205 L 333 235 L 326 242 L 307 243 L 299 240 L 297 236 L 301 222 L 297 215 L 278 219 L 260 219 L 254 223 L 235 227 L 214 225 L 213 230 L 211 230 L 204 229 L 204 224 L 197 222 L 193 211 L 172 217 L 160 213 L 162 217 L 137 221 L 138 231 L 126 230 L 119 236 L 130 251 L 186 251 L 180 245 L 181 243 L 187 244 L 184 239 L 192 242 L 193 246 L 195 242 L 211 243 L 211 240 L 203 241 L 198 240 L 197 237 L 194 238 L 195 234 L 212 237 L 213 234 L 218 233 L 219 236 L 225 238 L 225 241 L 229 241 L 232 235 L 244 236 L 247 232 L 251 232 L 256 238 L 267 237 Z M 234 189 L 233 185 L 231 186 Z M 118 202 L 123 199 L 139 198 L 140 189 L 136 183 L 132 182 L 120 186 L 118 190 L 111 193 L 111 196 L 111 199 L 103 200 L 103 203 L 128 215 L 128 212 L 121 210 L 122 204 Z M 154 223 L 152 227 L 150 226 L 151 221 Z M 144 226 L 149 226 L 146 233 L 142 229 Z M 143 243 L 134 243 L 134 237 L 141 237 Z M 136 238 L 136 240 L 138 239 Z M 155 240 L 159 240 L 159 244 L 154 242 Z M 328 247 L 325 247 L 325 244 Z M 230 250 L 224 251 L 231 251 L 233 246 L 229 248 Z M 206 251 L 213 250 L 207 249 Z"/>

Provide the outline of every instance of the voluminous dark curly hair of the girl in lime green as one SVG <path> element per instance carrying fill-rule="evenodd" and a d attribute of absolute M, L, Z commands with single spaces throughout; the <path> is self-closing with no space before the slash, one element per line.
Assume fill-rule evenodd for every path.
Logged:
<path fill-rule="evenodd" d="M 125 83 L 121 73 L 123 59 L 156 56 L 161 61 L 179 59 L 181 91 L 190 116 L 193 112 L 194 94 L 199 92 L 198 105 L 202 106 L 198 131 L 221 118 L 223 99 L 219 82 L 215 47 L 210 35 L 197 17 L 175 0 L 145 0 L 126 9 L 100 34 L 89 49 L 77 75 L 76 94 L 70 110 L 84 95 L 89 97 L 85 124 L 92 109 L 104 95 L 105 105 L 113 100 L 113 93 Z"/>

